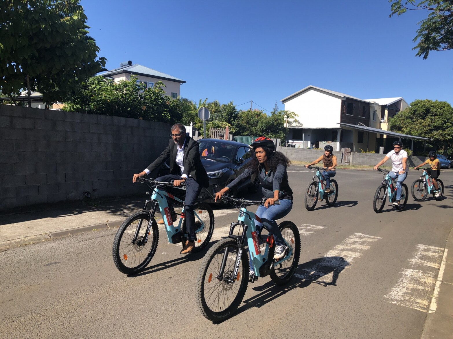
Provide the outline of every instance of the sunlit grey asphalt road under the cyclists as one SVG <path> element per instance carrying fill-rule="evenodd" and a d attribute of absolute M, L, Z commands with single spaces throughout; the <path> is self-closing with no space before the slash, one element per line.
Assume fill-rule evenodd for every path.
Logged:
<path fill-rule="evenodd" d="M 372 209 L 376 171 L 338 170 L 336 207 L 308 212 L 312 172 L 289 168 L 299 226 L 299 267 L 288 285 L 249 284 L 238 312 L 213 324 L 198 311 L 195 280 L 203 254 L 182 256 L 161 233 L 147 270 L 114 266 L 116 230 L 102 230 L 0 253 L 2 338 L 419 338 L 431 306 L 453 217 L 453 170 L 442 170 L 442 201 L 396 211 Z M 420 172 L 411 170 L 406 184 Z M 213 240 L 234 210 L 215 211 Z M 334 259 L 334 260 L 333 260 Z M 333 260 L 333 261 L 332 261 Z M 335 264 L 332 264 L 334 262 Z"/>

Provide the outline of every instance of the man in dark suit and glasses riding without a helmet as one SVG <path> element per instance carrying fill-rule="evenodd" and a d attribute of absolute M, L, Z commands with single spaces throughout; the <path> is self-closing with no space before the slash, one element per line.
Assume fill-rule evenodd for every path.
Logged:
<path fill-rule="evenodd" d="M 196 202 L 198 194 L 202 187 L 208 187 L 209 179 L 206 174 L 201 160 L 198 148 L 198 142 L 191 137 L 186 137 L 186 127 L 177 123 L 171 127 L 172 139 L 169 146 L 153 161 L 143 172 L 134 174 L 132 182 L 135 183 L 137 178 L 149 174 L 170 158 L 170 174 L 156 178 L 157 181 L 173 180 L 174 186 L 182 183 L 186 184 L 186 199 L 184 201 L 184 211 L 186 215 L 187 238 L 186 244 L 181 250 L 181 254 L 191 253 L 195 247 L 195 214 L 193 205 Z M 172 216 L 173 219 L 173 216 Z M 174 220 L 176 220 L 176 216 Z"/>

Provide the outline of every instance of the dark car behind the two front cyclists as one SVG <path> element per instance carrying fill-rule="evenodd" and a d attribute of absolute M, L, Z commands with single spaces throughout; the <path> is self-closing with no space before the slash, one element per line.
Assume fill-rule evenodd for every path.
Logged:
<path fill-rule="evenodd" d="M 251 158 L 252 148 L 241 142 L 222 140 L 222 139 L 200 139 L 200 158 L 209 177 L 209 187 L 202 189 L 198 196 L 200 201 L 212 202 L 212 197 L 227 184 L 231 183 L 238 175 L 245 170 L 245 165 Z M 165 164 L 159 171 L 159 175 L 169 173 L 169 165 Z M 256 174 L 251 179 L 245 179 L 239 183 L 231 195 L 247 189 L 250 193 L 255 193 L 260 186 L 260 181 Z M 181 189 L 170 188 L 169 192 L 181 196 Z"/>

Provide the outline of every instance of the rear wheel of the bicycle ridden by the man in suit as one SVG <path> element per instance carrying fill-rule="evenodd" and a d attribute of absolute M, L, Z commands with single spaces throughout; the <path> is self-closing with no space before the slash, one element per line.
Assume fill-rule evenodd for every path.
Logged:
<path fill-rule="evenodd" d="M 195 214 L 195 248 L 193 252 L 199 252 L 209 244 L 214 232 L 214 212 L 211 206 L 205 202 L 198 202 L 193 207 Z M 186 229 L 186 218 L 183 221 L 183 230 Z"/>

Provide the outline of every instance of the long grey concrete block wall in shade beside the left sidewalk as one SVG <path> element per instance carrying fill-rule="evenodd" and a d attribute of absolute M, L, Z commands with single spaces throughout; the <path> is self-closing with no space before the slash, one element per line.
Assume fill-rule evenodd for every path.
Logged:
<path fill-rule="evenodd" d="M 0 211 L 146 191 L 132 184 L 168 145 L 170 125 L 0 105 Z"/>

